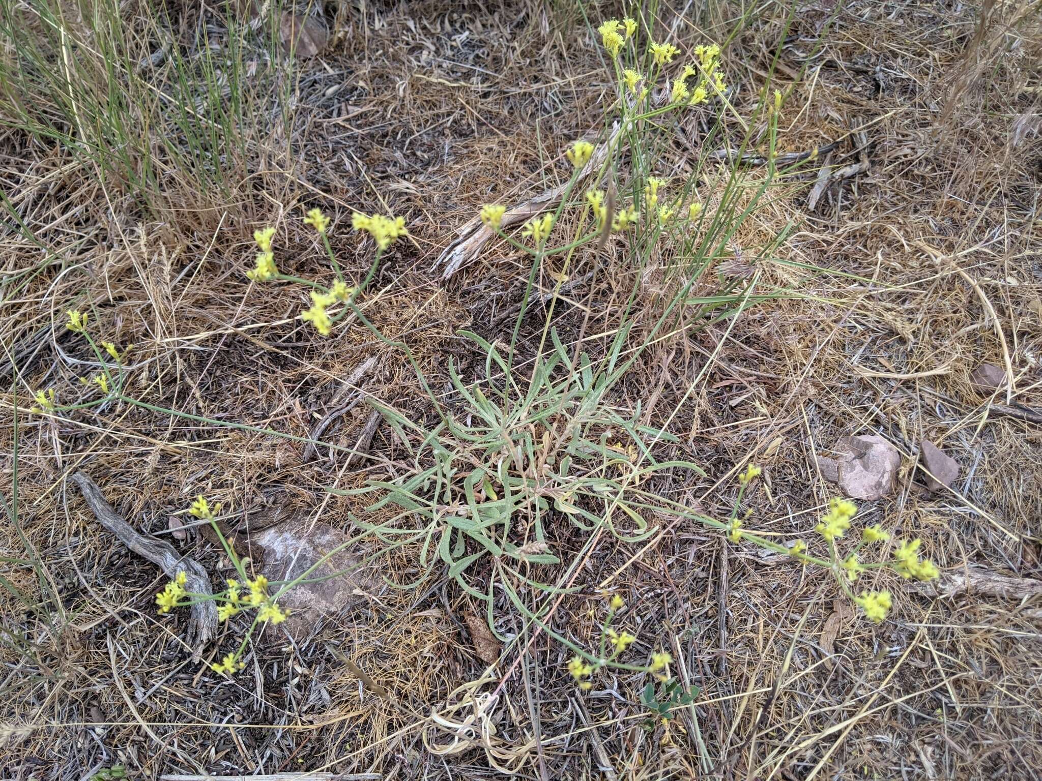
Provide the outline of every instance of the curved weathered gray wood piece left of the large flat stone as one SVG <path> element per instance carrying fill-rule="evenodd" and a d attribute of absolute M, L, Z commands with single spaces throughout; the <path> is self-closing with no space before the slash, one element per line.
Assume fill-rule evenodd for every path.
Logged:
<path fill-rule="evenodd" d="M 98 523 L 115 534 L 123 545 L 158 566 L 171 580 L 177 577 L 177 573 L 183 572 L 188 577 L 184 590 L 204 597 L 214 594 L 209 577 L 201 564 L 181 556 L 170 543 L 135 531 L 116 514 L 113 506 L 105 501 L 101 488 L 82 472 L 74 472 L 69 479 L 79 488 Z M 204 599 L 192 605 L 184 641 L 193 649 L 194 660 L 198 661 L 202 657 L 203 648 L 217 634 L 217 605 L 213 600 Z"/>

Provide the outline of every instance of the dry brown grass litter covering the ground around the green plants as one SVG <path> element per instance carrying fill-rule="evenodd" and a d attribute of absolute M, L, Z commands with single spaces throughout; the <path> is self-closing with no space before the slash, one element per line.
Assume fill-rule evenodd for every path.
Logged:
<path fill-rule="evenodd" d="M 979 396 L 968 377 L 982 361 L 1009 360 L 1010 401 L 1042 407 L 1042 147 L 1025 130 L 1042 100 L 1039 3 L 986 3 L 984 20 L 964 5 L 855 3 L 824 28 L 818 50 L 833 5 L 800 10 L 783 50 L 782 85 L 792 96 L 780 143 L 802 151 L 844 138 L 829 163 L 865 157 L 869 168 L 829 187 L 814 211 L 807 185 L 816 169 L 800 186 L 777 188 L 735 242 L 741 255 L 743 245 L 796 221 L 782 261 L 762 273 L 803 297 L 751 309 L 726 339 L 721 325 L 663 341 L 615 401 L 640 401 L 648 421 L 661 422 L 708 364 L 671 429 L 684 436 L 678 454 L 710 477 L 654 487 L 726 515 L 735 467 L 754 456 L 765 480 L 750 497 L 749 525 L 786 534 L 809 532 L 833 490 L 815 454 L 842 434 L 882 433 L 905 459 L 897 494 L 867 504 L 866 520 L 921 536 L 942 570 L 1038 579 L 1039 428 L 997 413 L 993 402 L 1007 399 Z M 662 24 L 672 26 L 676 10 L 660 9 Z M 688 14 L 676 30 L 692 44 L 704 40 L 699 31 L 722 39 L 734 19 L 715 3 Z M 28 417 L 27 399 L 30 388 L 53 387 L 65 403 L 82 393 L 77 378 L 90 356 L 60 327 L 75 304 L 94 307 L 98 333 L 137 346 L 131 392 L 156 405 L 307 436 L 339 382 L 377 356 L 366 393 L 429 414 L 395 350 L 359 328 L 316 336 L 292 320 L 305 300 L 299 288 L 247 287 L 250 233 L 278 225 L 284 271 L 320 278 L 324 253 L 296 216 L 302 204 L 322 205 L 339 219 L 338 258 L 357 276 L 369 255 L 347 230 L 349 208 L 406 215 L 413 241 L 396 246 L 363 307 L 388 336 L 407 338 L 435 389 L 446 391 L 449 356 L 465 370 L 477 366 L 456 330 L 508 336 L 513 320 L 502 313 L 518 303 L 527 269 L 497 250 L 443 282 L 432 268 L 440 249 L 482 202 L 541 192 L 550 171 L 543 163 L 562 140 L 599 121 L 610 85 L 589 32 L 562 24 L 569 15 L 579 19 L 574 9 L 420 3 L 367 6 L 363 20 L 344 5 L 336 43 L 303 64 L 292 148 L 277 132 L 251 147 L 255 168 L 230 178 L 225 202 L 172 178 L 163 219 L 107 190 L 68 149 L 5 131 L 0 177 L 33 234 L 6 225 L 0 255 L 0 334 L 19 373 L 0 400 L 8 502 L 16 386 L 22 410 L 20 528 L 5 524 L 0 538 L 0 554 L 17 560 L 4 559 L 0 574 L 27 600 L 0 589 L 5 777 L 89 778 L 117 762 L 142 778 L 490 778 L 497 766 L 544 780 L 1037 777 L 1037 596 L 935 599 L 882 576 L 901 594 L 876 627 L 855 615 L 827 573 L 726 546 L 676 519 L 660 519 L 662 531 L 640 546 L 605 537 L 551 628 L 595 645 L 599 589 L 626 598 L 642 647 L 671 649 L 681 676 L 701 689 L 668 730 L 648 732 L 642 678 L 604 674 L 580 692 L 564 673 L 567 649 L 544 633 L 521 634 L 497 671 L 485 673 L 464 619 L 474 607 L 444 582 L 374 597 L 306 641 L 259 641 L 243 674 L 219 679 L 191 662 L 179 619 L 155 615 L 162 575 L 104 534 L 67 488 L 65 476 L 83 469 L 134 526 L 160 531 L 198 493 L 237 508 L 279 503 L 314 515 L 325 486 L 356 487 L 372 471 L 406 469 L 386 427 L 368 461 L 345 468 L 322 454 L 302 464 L 297 442 L 118 405 Z M 727 50 L 740 100 L 752 101 L 763 83 L 784 17 L 766 6 Z M 699 128 L 691 121 L 684 130 L 664 170 L 683 172 L 697 153 Z M 590 312 L 586 333 L 616 324 L 617 291 L 628 287 L 625 259 L 610 260 L 594 286 L 571 293 Z M 580 262 L 589 268 L 575 276 L 595 260 Z M 661 282 L 647 280 L 648 311 Z M 542 311 L 526 329 L 542 328 Z M 577 336 L 584 316 L 562 302 L 554 309 L 565 337 Z M 939 368 L 949 371 L 907 380 L 860 373 Z M 351 447 L 364 420 L 340 421 L 326 439 Z M 962 465 L 950 492 L 920 487 L 920 437 Z M 361 506 L 334 497 L 323 519 L 349 528 L 347 513 Z M 567 545 L 567 530 L 559 541 Z M 178 545 L 218 571 L 218 552 L 201 537 Z M 572 545 L 563 558 L 579 555 L 581 541 Z M 386 565 L 396 574 L 411 566 L 398 553 Z M 499 621 L 503 631 L 522 631 L 508 612 Z M 327 645 L 390 699 L 366 690 Z M 464 742 L 453 745 L 431 713 L 464 719 L 474 710 L 468 692 L 495 694 L 481 701 L 487 739 L 461 733 Z"/>

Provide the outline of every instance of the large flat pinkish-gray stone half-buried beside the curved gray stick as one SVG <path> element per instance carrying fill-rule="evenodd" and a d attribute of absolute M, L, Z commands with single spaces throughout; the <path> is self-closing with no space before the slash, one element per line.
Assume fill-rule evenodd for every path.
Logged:
<path fill-rule="evenodd" d="M 255 532 L 250 541 L 264 551 L 262 572 L 268 580 L 293 580 L 300 577 L 323 556 L 347 543 L 348 536 L 327 524 L 295 515 L 275 526 Z M 368 601 L 369 595 L 382 590 L 382 581 L 374 577 L 369 564 L 362 564 L 364 553 L 353 545 L 332 554 L 314 572 L 317 582 L 299 583 L 282 595 L 278 604 L 290 610 L 280 626 L 294 637 L 311 633 L 323 616 L 333 616 Z M 334 573 L 347 571 L 332 576 Z M 275 588 L 269 588 L 274 594 Z"/>

